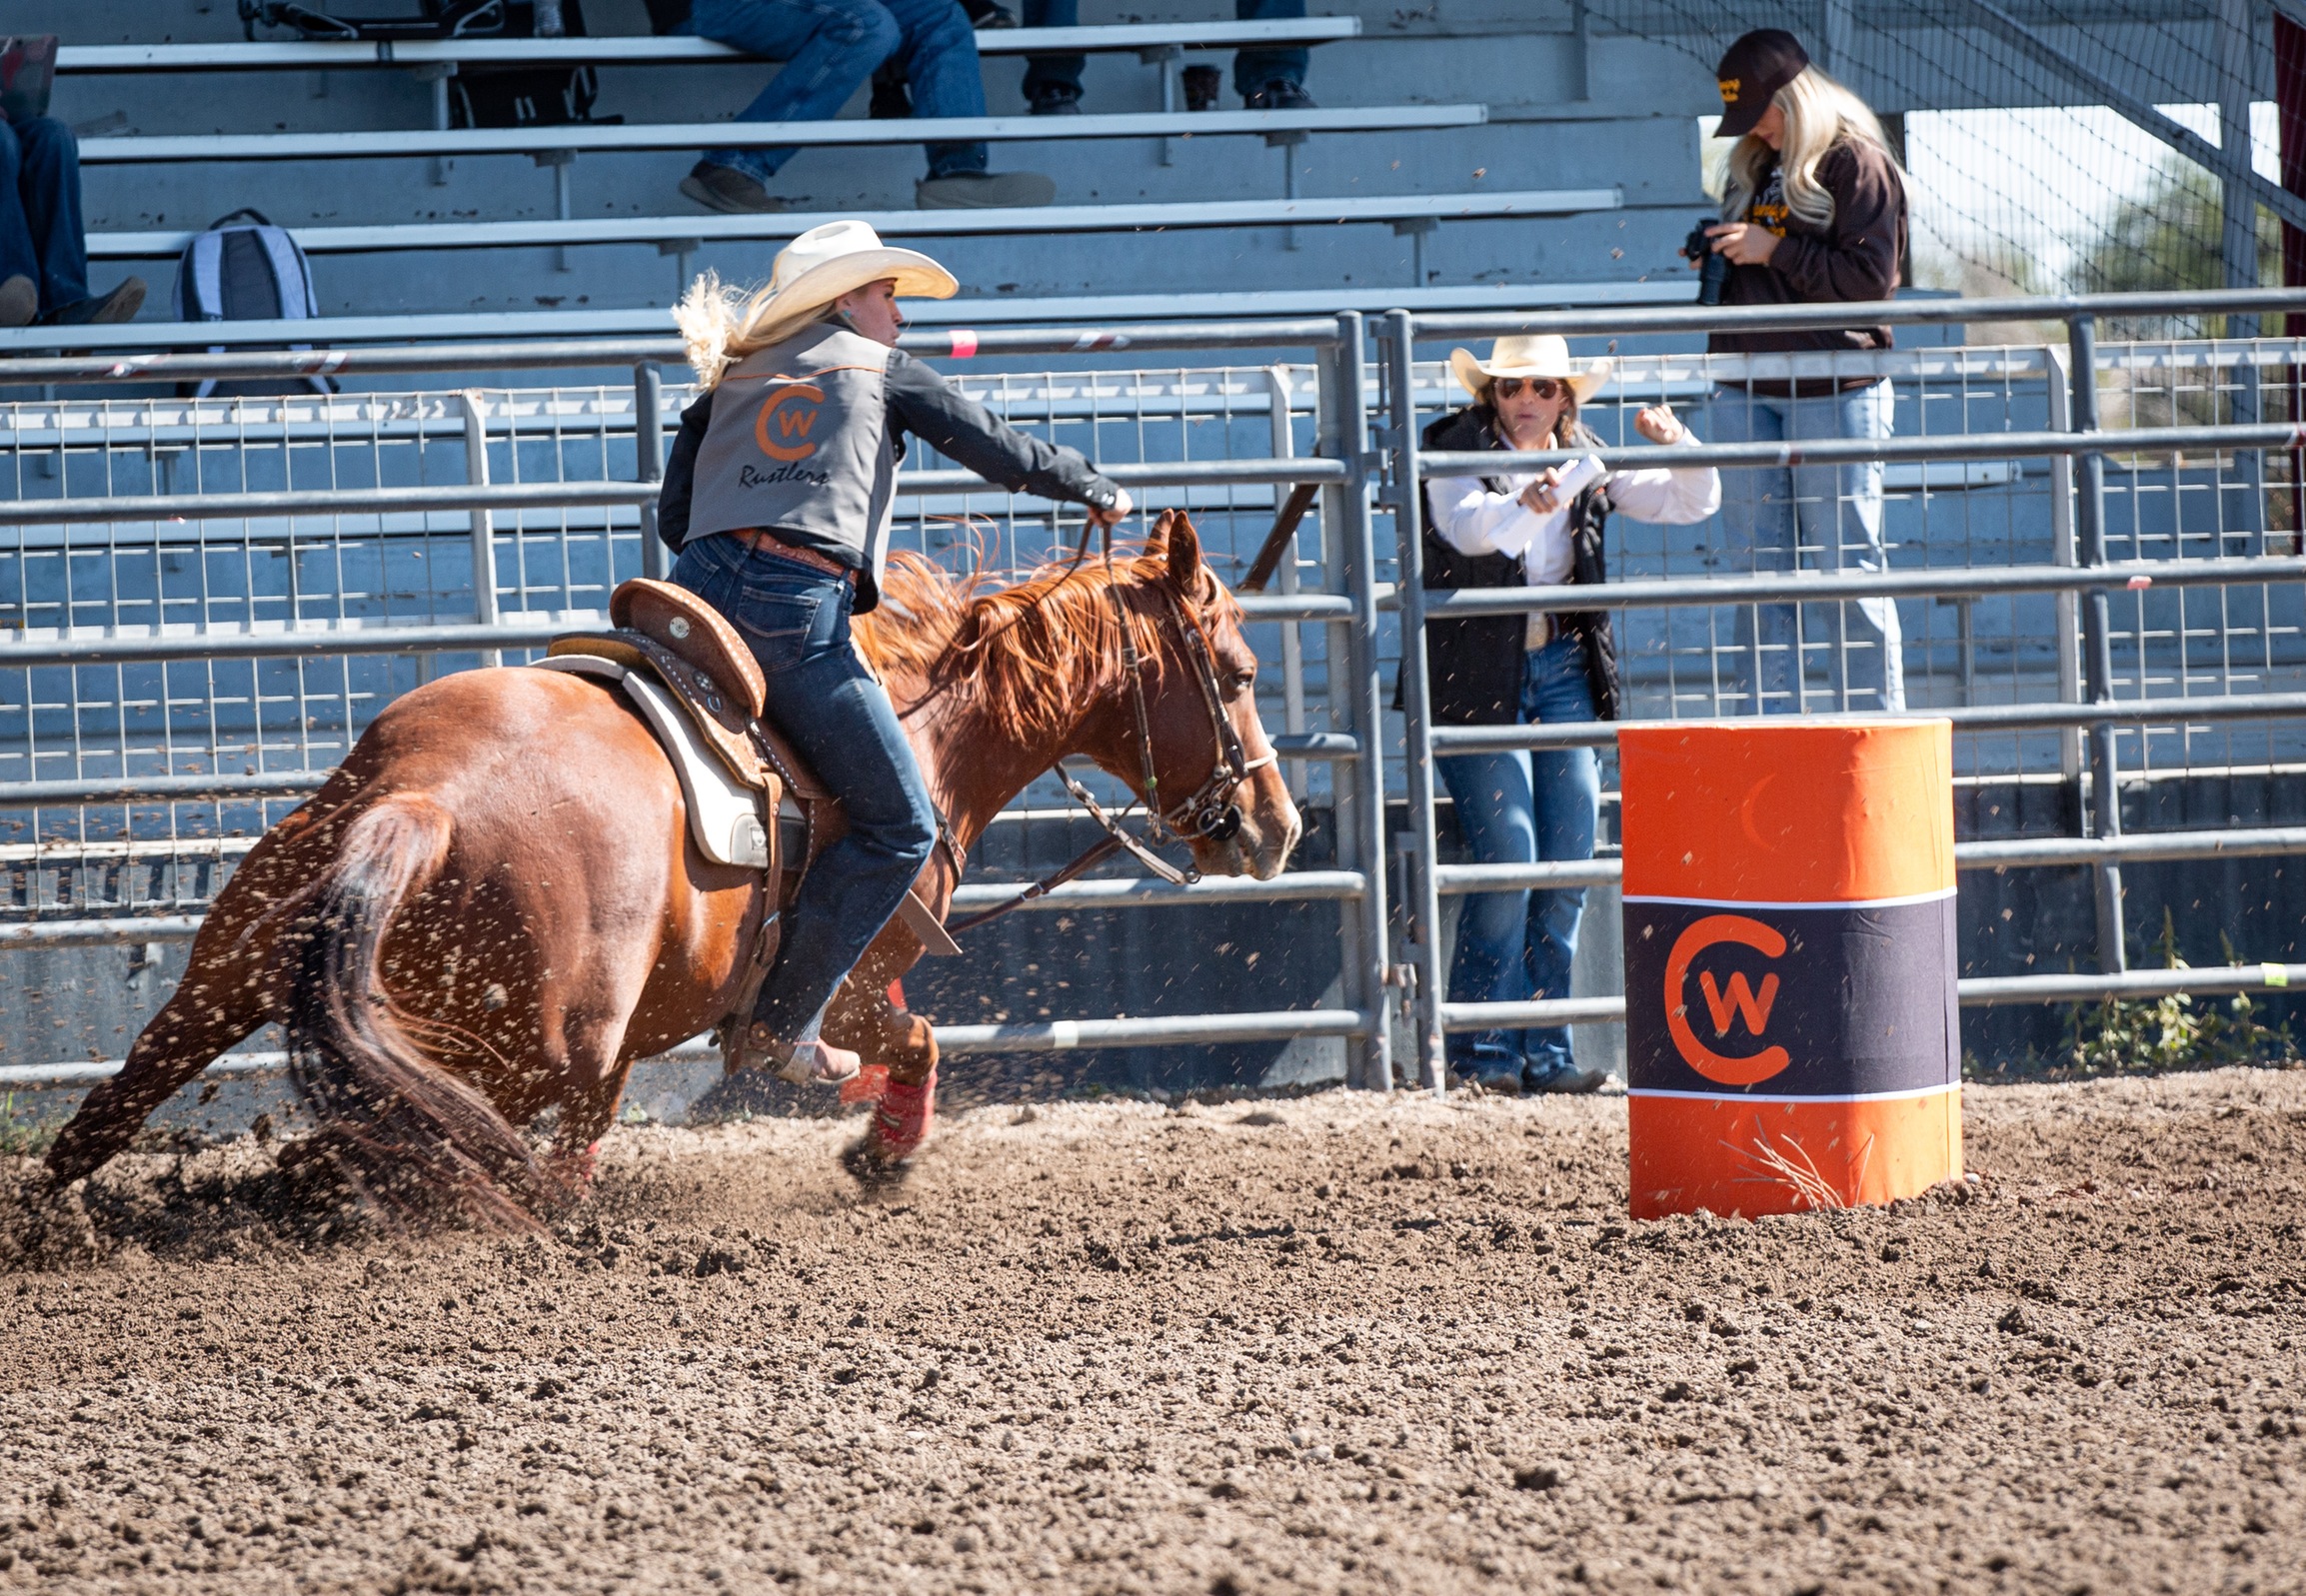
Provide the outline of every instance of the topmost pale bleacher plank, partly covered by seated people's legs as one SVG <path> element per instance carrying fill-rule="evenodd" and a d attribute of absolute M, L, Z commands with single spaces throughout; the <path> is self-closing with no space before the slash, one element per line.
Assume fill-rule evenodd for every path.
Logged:
<path fill-rule="evenodd" d="M 1358 16 L 1308 16 L 1280 23 L 1132 23 L 1109 28 L 992 28 L 978 35 L 978 55 L 1056 55 L 1148 51 L 1176 44 L 1224 51 L 1273 44 L 1333 44 L 1361 37 Z M 258 42 L 219 44 L 65 44 L 58 71 L 284 71 L 353 67 L 673 67 L 763 60 L 713 39 L 604 35 L 593 39 L 397 39 L 397 42 Z"/>

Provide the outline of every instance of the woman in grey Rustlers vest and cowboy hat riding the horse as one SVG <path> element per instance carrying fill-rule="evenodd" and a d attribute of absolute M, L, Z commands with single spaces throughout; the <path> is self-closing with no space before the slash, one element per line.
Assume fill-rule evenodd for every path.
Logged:
<path fill-rule="evenodd" d="M 849 814 L 849 835 L 809 865 L 743 1049 L 745 1066 L 796 1082 L 856 1075 L 858 1056 L 819 1038 L 826 1003 L 936 844 L 897 710 L 849 646 L 849 616 L 881 600 L 904 434 L 1105 526 L 1130 512 L 1075 450 L 1012 431 L 895 348 L 897 298 L 952 291 L 929 256 L 828 221 L 777 254 L 768 288 L 703 277 L 678 309 L 706 392 L 680 417 L 657 500 L 657 533 L 680 551 L 673 581 L 745 637 L 777 729 Z M 918 1116 L 927 1093 L 890 1084 L 883 1119 Z M 890 1142 L 906 1142 L 902 1128 Z"/>

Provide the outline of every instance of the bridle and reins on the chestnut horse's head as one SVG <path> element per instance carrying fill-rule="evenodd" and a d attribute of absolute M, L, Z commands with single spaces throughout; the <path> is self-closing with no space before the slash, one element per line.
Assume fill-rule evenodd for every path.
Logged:
<path fill-rule="evenodd" d="M 1079 565 L 1079 558 L 1075 558 L 1075 565 Z M 1107 577 L 1111 577 L 1111 567 L 1114 549 L 1111 533 L 1107 533 Z M 1192 680 L 1201 690 L 1201 706 L 1208 710 L 1208 729 L 1218 750 L 1218 756 L 1208 766 L 1208 780 L 1204 780 L 1183 803 L 1169 805 L 1167 810 L 1162 807 L 1160 773 L 1153 768 L 1153 706 L 1146 699 L 1146 657 L 1137 650 L 1137 634 L 1130 630 L 1130 611 L 1121 597 L 1121 584 L 1109 579 L 1105 584 L 1105 593 L 1114 602 L 1114 620 L 1121 630 L 1121 676 L 1128 683 L 1130 710 L 1137 722 L 1137 759 L 1144 782 L 1146 835 L 1151 837 L 1151 844 L 1128 830 L 1125 810 L 1118 816 L 1107 812 L 1105 805 L 1098 803 L 1095 793 L 1082 786 L 1070 770 L 1058 766 L 1056 780 L 1065 784 L 1065 791 L 1072 793 L 1075 803 L 1088 810 L 1088 819 L 1105 830 L 1105 842 L 1084 849 L 1063 869 L 1042 876 L 1005 904 L 996 904 L 994 909 L 985 909 L 962 920 L 948 920 L 948 934 L 966 932 L 975 925 L 985 925 L 987 920 L 998 920 L 1010 909 L 1022 909 L 1035 897 L 1056 890 L 1065 881 L 1072 881 L 1082 872 L 1093 869 L 1114 853 L 1123 851 L 1162 881 L 1169 881 L 1171 886 L 1192 886 L 1201 879 L 1199 869 L 1192 865 L 1181 869 L 1153 849 L 1165 842 L 1229 842 L 1241 833 L 1241 805 L 1236 803 L 1236 796 L 1241 793 L 1243 782 L 1248 782 L 1257 770 L 1271 766 L 1275 756 L 1264 754 L 1259 759 L 1250 759 L 1250 750 L 1241 743 L 1241 733 L 1234 731 L 1234 722 L 1224 715 L 1224 687 L 1218 683 L 1218 662 L 1211 655 L 1208 634 L 1201 630 L 1199 618 L 1188 613 L 1183 597 L 1176 595 L 1167 581 L 1158 586 L 1162 595 L 1162 613 L 1155 630 L 1176 627 L 1185 660 L 1192 667 Z"/>

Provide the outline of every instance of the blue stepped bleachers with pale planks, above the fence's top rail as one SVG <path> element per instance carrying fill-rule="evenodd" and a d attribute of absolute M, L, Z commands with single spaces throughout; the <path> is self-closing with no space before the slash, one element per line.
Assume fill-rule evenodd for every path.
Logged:
<path fill-rule="evenodd" d="M 987 58 L 1093 58 L 1088 111 L 1061 120 L 1003 115 L 1022 104 L 1017 67 L 996 71 L 992 60 L 985 118 L 872 120 L 858 106 L 830 122 L 759 125 L 708 120 L 743 104 L 768 69 L 706 39 L 244 42 L 196 0 L 85 0 L 90 21 L 65 39 L 58 95 L 83 131 L 97 261 L 166 261 L 210 214 L 256 205 L 323 258 L 321 300 L 337 337 L 367 337 L 355 325 L 436 337 L 417 328 L 464 314 L 489 330 L 544 334 L 574 330 L 570 318 L 660 330 L 657 307 L 692 265 L 756 277 L 775 242 L 837 214 L 862 214 L 890 238 L 955 240 L 948 261 L 966 300 L 936 318 L 964 325 L 1022 321 L 1024 307 L 1063 321 L 1160 316 L 1165 284 L 1192 288 L 1167 295 L 1178 311 L 1192 300 L 1229 314 L 1303 314 L 1324 284 L 1347 291 L 1326 295 L 1326 307 L 1377 309 L 1407 302 L 1411 286 L 1418 302 L 1439 293 L 1434 302 L 1453 304 L 1453 284 L 1527 286 L 1531 274 L 1559 279 L 1545 302 L 1607 302 L 1628 284 L 1640 300 L 1686 293 L 1679 274 L 1658 272 L 1672 261 L 1656 244 L 1667 233 L 1656 210 L 1660 194 L 1676 212 L 1697 203 L 1695 168 L 1683 178 L 1640 150 L 1660 134 L 1679 148 L 1693 129 L 1651 118 L 1593 141 L 1598 129 L 1575 118 L 1531 122 L 1515 95 L 1550 81 L 1536 67 L 1561 48 L 1533 23 L 1494 23 L 1513 48 L 1434 23 L 1444 42 L 1416 46 L 1425 65 L 1446 51 L 1460 67 L 1425 71 L 1395 39 L 1427 25 L 1416 12 L 1326 2 L 1349 14 L 980 32 Z M 604 12 L 588 18 L 595 28 L 639 21 L 636 7 L 595 12 Z M 1280 44 L 1321 46 L 1319 108 L 1176 108 L 1188 51 Z M 1130 55 L 1160 69 L 1158 92 L 1130 76 Z M 600 69 L 602 111 L 620 120 L 447 127 L 452 74 L 553 65 Z M 1005 145 L 996 166 L 1052 171 L 1061 203 L 899 210 L 915 168 L 909 148 L 959 138 Z M 729 145 L 812 150 L 779 185 L 793 210 L 685 212 L 673 189 L 687 159 Z M 549 187 L 530 187 L 530 159 L 551 171 Z M 410 270 L 429 251 L 461 258 L 452 270 Z M 1480 265 L 1457 265 L 1469 258 Z M 1663 286 L 1635 284 L 1644 274 Z M 1471 295 L 1490 302 L 1487 286 Z M 166 314 L 164 295 L 155 314 Z M 83 334 L 74 346 L 120 344 Z"/>

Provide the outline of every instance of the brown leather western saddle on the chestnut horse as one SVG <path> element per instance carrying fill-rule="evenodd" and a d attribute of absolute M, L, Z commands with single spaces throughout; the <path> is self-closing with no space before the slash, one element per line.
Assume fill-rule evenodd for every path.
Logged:
<path fill-rule="evenodd" d="M 770 727 L 768 683 L 729 620 L 687 588 L 634 577 L 609 595 L 613 632 L 572 632 L 544 650 L 551 660 L 590 655 L 662 683 L 687 710 L 719 766 L 754 793 L 768 840 L 763 869 L 768 902 L 754 936 L 738 1003 L 722 1026 L 722 1052 L 736 1061 L 733 1040 L 752 1015 L 761 978 L 777 957 L 784 909 L 791 906 L 816 856 L 849 830 L 839 798 L 784 736 Z M 666 750 L 671 754 L 671 750 Z M 939 916 L 906 893 L 899 918 L 929 953 L 959 953 Z"/>

